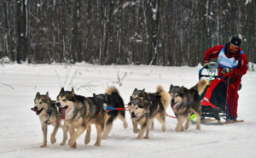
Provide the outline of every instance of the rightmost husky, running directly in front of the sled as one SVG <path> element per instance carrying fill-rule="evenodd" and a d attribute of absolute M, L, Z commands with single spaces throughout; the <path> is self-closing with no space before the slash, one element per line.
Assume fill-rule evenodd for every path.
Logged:
<path fill-rule="evenodd" d="M 189 116 L 192 111 L 196 116 L 196 129 L 201 130 L 201 99 L 199 93 L 203 92 L 207 84 L 207 79 L 202 79 L 190 89 L 173 86 L 171 84 L 169 93 L 172 97 L 171 107 L 177 117 L 177 127 L 175 127 L 176 132 L 184 130 L 183 122 L 186 120 L 185 129 L 189 128 Z"/>

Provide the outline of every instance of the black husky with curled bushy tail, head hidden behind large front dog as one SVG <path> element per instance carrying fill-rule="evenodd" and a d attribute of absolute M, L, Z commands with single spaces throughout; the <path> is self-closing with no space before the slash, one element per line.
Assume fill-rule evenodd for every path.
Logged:
<path fill-rule="evenodd" d="M 107 115 L 105 117 L 105 130 L 103 132 L 102 138 L 108 138 L 108 133 L 110 133 L 113 126 L 113 121 L 119 117 L 123 121 L 123 126 L 128 127 L 125 120 L 125 104 L 121 96 L 119 95 L 119 90 L 116 87 L 108 87 L 106 93 L 96 95 L 93 93 L 94 98 L 99 99 L 106 106 L 105 110 Z M 119 110 L 109 110 L 112 108 L 119 108 Z"/>

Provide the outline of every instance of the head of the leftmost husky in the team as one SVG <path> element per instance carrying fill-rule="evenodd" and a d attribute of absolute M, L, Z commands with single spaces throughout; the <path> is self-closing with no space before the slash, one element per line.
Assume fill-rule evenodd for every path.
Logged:
<path fill-rule="evenodd" d="M 34 108 L 32 108 L 32 110 L 36 111 L 37 115 L 44 115 L 50 105 L 51 100 L 49 99 L 48 92 L 45 95 L 37 93 L 34 99 Z"/>

